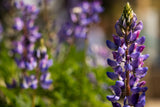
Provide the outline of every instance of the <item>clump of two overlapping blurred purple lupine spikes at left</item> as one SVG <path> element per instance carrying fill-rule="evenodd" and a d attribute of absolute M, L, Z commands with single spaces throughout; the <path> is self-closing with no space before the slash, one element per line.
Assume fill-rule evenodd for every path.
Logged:
<path fill-rule="evenodd" d="M 48 89 L 52 80 L 49 79 L 47 70 L 52 65 L 52 60 L 48 59 L 41 33 L 34 24 L 39 10 L 34 5 L 26 5 L 22 1 L 15 5 L 20 10 L 21 17 L 15 18 L 13 29 L 22 32 L 20 40 L 13 43 L 15 61 L 23 71 L 20 86 L 36 89 L 40 84 L 42 88 Z M 40 46 L 35 48 L 37 41 L 40 41 Z M 36 72 L 29 75 L 27 71 L 32 70 Z"/>

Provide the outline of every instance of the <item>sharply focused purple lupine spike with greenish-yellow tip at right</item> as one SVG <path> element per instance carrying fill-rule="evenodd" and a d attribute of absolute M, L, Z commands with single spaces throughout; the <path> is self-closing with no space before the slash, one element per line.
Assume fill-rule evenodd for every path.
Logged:
<path fill-rule="evenodd" d="M 139 34 L 143 24 L 142 21 L 137 23 L 136 14 L 129 3 L 124 7 L 115 29 L 117 35 L 113 35 L 114 43 L 109 40 L 106 42 L 108 48 L 113 50 L 114 59 L 107 60 L 108 65 L 114 69 L 114 72 L 107 72 L 107 76 L 116 80 L 115 85 L 110 87 L 114 95 L 107 96 L 107 99 L 112 102 L 113 107 L 121 107 L 117 101 L 124 91 L 123 107 L 144 107 L 147 87 L 144 86 L 146 82 L 140 79 L 147 73 L 148 68 L 143 65 L 149 55 L 142 54 L 145 37 L 139 37 Z"/>

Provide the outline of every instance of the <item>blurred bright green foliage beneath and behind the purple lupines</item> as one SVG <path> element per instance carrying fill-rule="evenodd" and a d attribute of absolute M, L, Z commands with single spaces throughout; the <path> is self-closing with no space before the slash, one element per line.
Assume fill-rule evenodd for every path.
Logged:
<path fill-rule="evenodd" d="M 50 67 L 53 84 L 49 90 L 7 89 L 5 82 L 14 78 L 18 81 L 21 72 L 14 59 L 10 56 L 10 49 L 5 42 L 0 43 L 0 107 L 108 107 L 106 100 L 109 92 L 103 86 L 110 86 L 113 82 L 106 76 L 111 68 L 90 67 L 86 64 L 86 52 L 77 50 L 75 46 L 65 46 Z M 96 83 L 91 83 L 87 74 L 95 74 Z"/>

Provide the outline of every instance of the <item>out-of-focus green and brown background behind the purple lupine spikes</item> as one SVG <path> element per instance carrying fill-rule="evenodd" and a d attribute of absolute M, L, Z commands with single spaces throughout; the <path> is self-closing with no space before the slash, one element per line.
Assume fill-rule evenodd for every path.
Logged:
<path fill-rule="evenodd" d="M 24 0 L 40 8 L 36 25 L 45 39 L 49 57 L 53 59 L 53 65 L 49 68 L 53 84 L 49 90 L 6 88 L 5 83 L 11 83 L 21 73 L 11 52 L 12 42 L 18 37 L 12 29 L 17 10 L 13 6 L 14 0 L 0 0 L 0 22 L 3 26 L 0 36 L 0 106 L 31 107 L 32 95 L 35 94 L 36 107 L 111 107 L 106 96 L 111 93 L 108 86 L 114 82 L 106 76 L 106 71 L 112 69 L 106 63 L 111 52 L 105 42 L 112 40 L 114 25 L 128 1 L 138 20 L 143 21 L 144 28 L 140 35 L 146 36 L 144 53 L 150 54 L 145 62 L 149 67 L 144 78 L 149 88 L 146 107 L 159 107 L 159 0 L 102 0 L 104 11 L 99 14 L 99 23 L 90 26 L 88 38 L 69 38 L 61 44 L 58 42 L 58 32 L 69 20 L 70 8 L 81 0 L 46 0 L 50 2 L 47 7 L 43 1 Z"/>

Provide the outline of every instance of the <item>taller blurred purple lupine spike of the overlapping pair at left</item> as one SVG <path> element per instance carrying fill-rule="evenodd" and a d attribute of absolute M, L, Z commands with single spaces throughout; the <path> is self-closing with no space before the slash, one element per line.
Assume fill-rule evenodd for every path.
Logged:
<path fill-rule="evenodd" d="M 33 70 L 37 66 L 36 58 L 33 55 L 34 44 L 40 39 L 41 34 L 38 27 L 34 25 L 37 17 L 38 9 L 34 5 L 26 5 L 22 1 L 16 3 L 16 7 L 20 10 L 21 17 L 15 18 L 13 28 L 17 31 L 23 30 L 21 39 L 14 42 L 13 52 L 16 57 L 18 67 L 26 70 Z"/>

